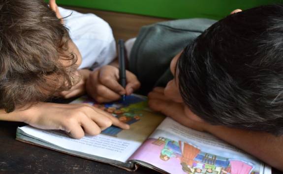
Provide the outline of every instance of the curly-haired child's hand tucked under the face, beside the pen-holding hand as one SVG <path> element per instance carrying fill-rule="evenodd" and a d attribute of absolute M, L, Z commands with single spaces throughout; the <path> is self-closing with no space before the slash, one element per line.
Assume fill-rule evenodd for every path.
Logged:
<path fill-rule="evenodd" d="M 70 90 L 60 92 L 58 96 L 64 99 L 69 99 L 84 95 L 86 93 L 86 82 L 90 73 L 90 70 L 78 70 L 77 78 L 79 79 L 79 82 L 72 86 Z"/>

